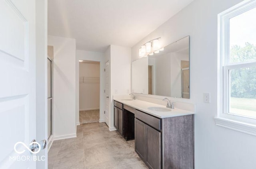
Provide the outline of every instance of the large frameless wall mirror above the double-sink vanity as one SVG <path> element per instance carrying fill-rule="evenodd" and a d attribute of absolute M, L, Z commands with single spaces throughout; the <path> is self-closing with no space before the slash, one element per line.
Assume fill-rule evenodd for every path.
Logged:
<path fill-rule="evenodd" d="M 189 36 L 132 62 L 132 92 L 189 98 Z"/>

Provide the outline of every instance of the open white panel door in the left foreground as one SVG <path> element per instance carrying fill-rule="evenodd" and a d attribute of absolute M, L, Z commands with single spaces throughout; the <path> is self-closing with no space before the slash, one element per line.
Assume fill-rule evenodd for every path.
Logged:
<path fill-rule="evenodd" d="M 35 0 L 0 0 L 0 23 L 0 169 L 35 169 Z"/>

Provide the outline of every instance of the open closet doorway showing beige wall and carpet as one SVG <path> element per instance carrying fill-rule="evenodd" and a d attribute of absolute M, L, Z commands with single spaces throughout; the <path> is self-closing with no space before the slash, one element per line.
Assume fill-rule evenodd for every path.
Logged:
<path fill-rule="evenodd" d="M 100 62 L 79 61 L 79 122 L 100 119 Z"/>

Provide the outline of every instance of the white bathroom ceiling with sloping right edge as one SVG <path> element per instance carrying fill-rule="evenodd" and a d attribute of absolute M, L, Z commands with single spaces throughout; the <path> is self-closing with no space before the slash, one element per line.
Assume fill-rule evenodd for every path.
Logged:
<path fill-rule="evenodd" d="M 132 47 L 192 1 L 48 0 L 48 35 L 74 38 L 80 50 Z"/>

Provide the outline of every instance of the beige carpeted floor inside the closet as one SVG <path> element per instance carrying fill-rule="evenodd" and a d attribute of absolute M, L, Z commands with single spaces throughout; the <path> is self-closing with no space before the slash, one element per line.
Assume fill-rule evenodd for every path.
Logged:
<path fill-rule="evenodd" d="M 100 110 L 86 110 L 79 112 L 79 122 L 81 123 L 90 123 L 98 122 L 100 119 Z"/>

